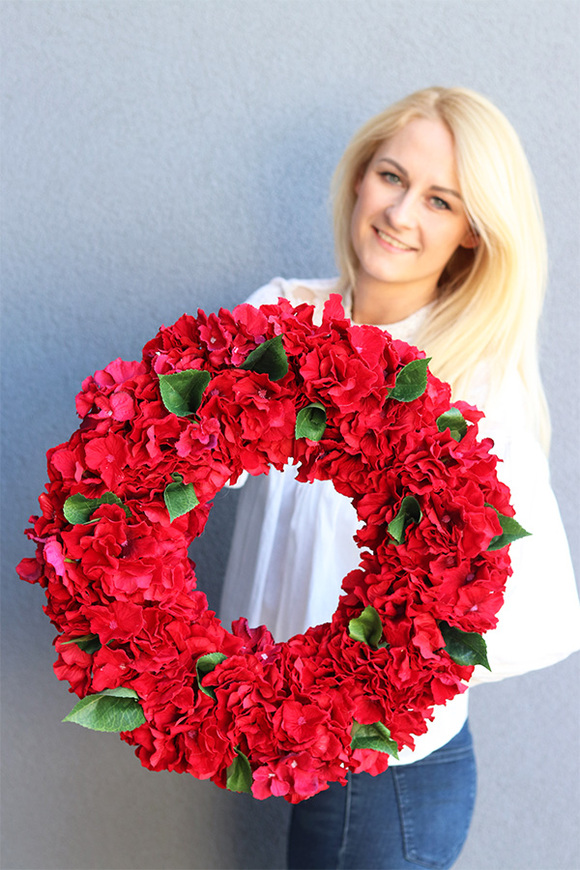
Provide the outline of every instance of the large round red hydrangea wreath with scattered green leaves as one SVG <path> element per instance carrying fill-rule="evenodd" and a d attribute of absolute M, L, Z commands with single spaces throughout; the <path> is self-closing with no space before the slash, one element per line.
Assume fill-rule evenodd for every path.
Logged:
<path fill-rule="evenodd" d="M 481 413 L 339 296 L 320 325 L 313 311 L 184 315 L 142 361 L 87 378 L 18 566 L 46 589 L 56 675 L 82 699 L 65 721 L 121 732 L 151 770 L 292 803 L 384 770 L 487 665 L 526 534 Z M 361 561 L 329 624 L 276 643 L 222 626 L 187 548 L 228 481 L 289 460 L 352 500 Z"/>

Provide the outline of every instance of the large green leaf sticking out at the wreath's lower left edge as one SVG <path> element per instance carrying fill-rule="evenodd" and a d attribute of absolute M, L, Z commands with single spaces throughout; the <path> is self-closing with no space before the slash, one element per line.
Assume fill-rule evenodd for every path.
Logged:
<path fill-rule="evenodd" d="M 145 723 L 137 692 L 125 686 L 105 689 L 82 698 L 63 722 L 76 722 L 92 731 L 133 731 Z"/>

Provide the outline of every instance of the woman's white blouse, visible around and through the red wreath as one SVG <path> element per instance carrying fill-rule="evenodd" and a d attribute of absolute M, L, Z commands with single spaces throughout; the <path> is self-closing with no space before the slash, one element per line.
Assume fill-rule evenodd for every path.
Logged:
<path fill-rule="evenodd" d="M 274 279 L 247 300 L 275 303 L 282 296 L 292 304 L 315 305 L 318 322 L 336 279 Z M 350 315 L 350 299 L 344 299 Z M 394 338 L 414 343 L 428 317 L 426 306 L 399 323 L 385 324 Z M 503 459 L 498 476 L 511 489 L 518 522 L 532 533 L 511 547 L 513 576 L 494 631 L 485 635 L 491 672 L 476 667 L 470 685 L 546 667 L 580 649 L 580 604 L 568 543 L 546 456 L 526 423 L 523 386 L 517 375 L 506 380 L 493 406 L 486 402 L 482 375 L 472 395 L 462 396 L 486 417 L 482 436 L 494 439 Z M 331 481 L 298 483 L 295 468 L 245 482 L 226 570 L 220 616 L 229 622 L 245 616 L 251 626 L 266 625 L 277 641 L 309 626 L 329 622 L 336 609 L 343 577 L 359 563 L 353 535 L 357 517 L 350 501 Z M 547 595 L 547 589 L 550 594 Z M 467 717 L 468 692 L 437 707 L 428 731 L 405 748 L 399 761 L 418 761 L 455 736 Z"/>

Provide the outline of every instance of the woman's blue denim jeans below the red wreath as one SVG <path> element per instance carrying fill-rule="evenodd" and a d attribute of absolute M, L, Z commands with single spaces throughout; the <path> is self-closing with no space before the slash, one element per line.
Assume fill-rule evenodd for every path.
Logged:
<path fill-rule="evenodd" d="M 291 870 L 445 870 L 467 837 L 476 789 L 467 723 L 445 746 L 378 776 L 350 775 L 346 786 L 292 808 Z"/>

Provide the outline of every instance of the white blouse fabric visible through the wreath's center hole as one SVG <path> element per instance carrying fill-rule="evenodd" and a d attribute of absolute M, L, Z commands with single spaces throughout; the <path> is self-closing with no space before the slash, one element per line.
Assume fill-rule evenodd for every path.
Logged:
<path fill-rule="evenodd" d="M 245 616 L 279 642 L 330 622 L 360 561 L 350 500 L 332 481 L 296 483 L 292 471 L 271 469 L 228 494 L 239 505 L 218 609 L 224 627 Z"/>

